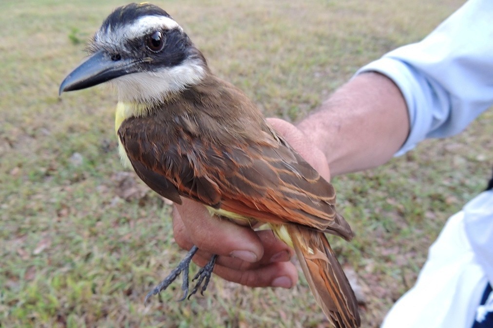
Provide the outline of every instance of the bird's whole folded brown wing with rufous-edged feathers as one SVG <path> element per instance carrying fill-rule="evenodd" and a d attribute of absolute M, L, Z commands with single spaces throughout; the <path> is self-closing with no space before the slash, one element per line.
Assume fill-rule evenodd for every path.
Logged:
<path fill-rule="evenodd" d="M 333 187 L 282 139 L 221 148 L 184 130 L 152 128 L 149 118 L 123 122 L 120 139 L 139 177 L 177 203 L 179 196 L 258 219 L 352 237 L 334 208 Z M 234 143 L 234 142 L 233 142 Z"/>

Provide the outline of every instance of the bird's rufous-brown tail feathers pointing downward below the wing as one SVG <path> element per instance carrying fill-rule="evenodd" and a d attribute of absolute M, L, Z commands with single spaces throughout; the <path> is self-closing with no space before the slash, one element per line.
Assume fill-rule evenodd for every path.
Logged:
<path fill-rule="evenodd" d="M 336 328 L 359 327 L 356 297 L 325 234 L 295 225 L 287 229 L 310 289 L 327 318 Z"/>

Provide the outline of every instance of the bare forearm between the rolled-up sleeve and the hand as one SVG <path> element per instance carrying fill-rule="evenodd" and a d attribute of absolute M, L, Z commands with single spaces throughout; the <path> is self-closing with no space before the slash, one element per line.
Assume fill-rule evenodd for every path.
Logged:
<path fill-rule="evenodd" d="M 339 88 L 298 128 L 338 175 L 386 163 L 406 140 L 409 118 L 395 84 L 370 72 Z"/>

